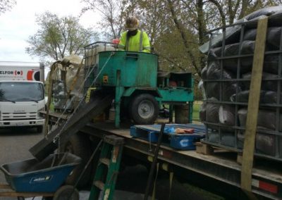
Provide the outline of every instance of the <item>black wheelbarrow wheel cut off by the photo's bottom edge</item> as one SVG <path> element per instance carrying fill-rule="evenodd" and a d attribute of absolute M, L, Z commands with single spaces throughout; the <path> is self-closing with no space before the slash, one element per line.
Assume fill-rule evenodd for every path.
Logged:
<path fill-rule="evenodd" d="M 78 189 L 71 185 L 63 185 L 55 192 L 53 200 L 79 200 Z"/>

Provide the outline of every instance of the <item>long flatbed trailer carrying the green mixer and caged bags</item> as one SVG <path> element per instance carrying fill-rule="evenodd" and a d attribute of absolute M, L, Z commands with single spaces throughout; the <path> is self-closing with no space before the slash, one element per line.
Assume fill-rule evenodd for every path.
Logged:
<path fill-rule="evenodd" d="M 45 112 L 41 113 L 46 115 Z M 49 124 L 58 120 L 61 123 L 67 115 L 49 113 Z M 130 136 L 129 127 L 116 128 L 114 123 L 88 123 L 80 133 L 90 136 L 91 140 L 102 139 L 104 135 L 116 135 L 125 139 L 123 154 L 136 158 L 137 161 L 149 163 L 154 155 L 156 144 Z M 207 189 L 227 199 L 247 199 L 240 189 L 241 165 L 236 161 L 238 153 L 231 151 L 216 152 L 212 155 L 198 154 L 195 150 L 178 151 L 161 145 L 158 162 L 169 172 Z M 252 169 L 252 192 L 257 199 L 282 199 L 281 163 L 255 159 Z"/>

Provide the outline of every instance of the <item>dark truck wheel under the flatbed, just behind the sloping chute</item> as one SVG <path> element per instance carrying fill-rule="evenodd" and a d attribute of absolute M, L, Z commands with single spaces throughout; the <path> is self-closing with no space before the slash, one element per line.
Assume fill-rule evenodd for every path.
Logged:
<path fill-rule="evenodd" d="M 66 179 L 67 185 L 75 185 L 78 177 L 82 173 L 82 170 L 85 168 L 87 161 L 90 158 L 90 140 L 85 137 L 85 135 L 80 134 L 79 132 L 71 136 L 66 142 L 62 142 L 60 146 L 60 152 L 68 152 L 78 156 L 82 159 L 81 163 L 73 170 L 73 172 L 68 175 Z M 78 182 L 78 188 L 85 187 L 90 181 L 92 165 L 88 166 L 85 173 L 80 178 Z"/>

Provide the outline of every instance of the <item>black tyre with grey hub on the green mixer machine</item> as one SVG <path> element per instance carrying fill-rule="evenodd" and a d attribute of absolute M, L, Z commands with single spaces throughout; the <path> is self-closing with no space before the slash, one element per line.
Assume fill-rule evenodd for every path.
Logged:
<path fill-rule="evenodd" d="M 151 94 L 139 94 L 130 103 L 130 117 L 136 124 L 152 124 L 158 115 L 159 106 Z"/>

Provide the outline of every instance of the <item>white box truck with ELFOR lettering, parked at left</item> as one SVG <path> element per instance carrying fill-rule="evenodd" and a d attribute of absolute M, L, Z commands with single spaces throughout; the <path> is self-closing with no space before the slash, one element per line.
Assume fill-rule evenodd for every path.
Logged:
<path fill-rule="evenodd" d="M 0 61 L 0 127 L 36 127 L 42 132 L 44 65 Z"/>

